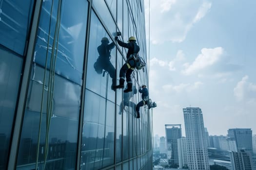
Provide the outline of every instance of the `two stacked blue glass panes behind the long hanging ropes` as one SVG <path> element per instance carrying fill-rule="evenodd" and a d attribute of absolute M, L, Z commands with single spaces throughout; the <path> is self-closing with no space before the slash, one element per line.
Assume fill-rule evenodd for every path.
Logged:
<path fill-rule="evenodd" d="M 17 169 L 76 166 L 88 2 L 52 2 L 42 2 Z"/>

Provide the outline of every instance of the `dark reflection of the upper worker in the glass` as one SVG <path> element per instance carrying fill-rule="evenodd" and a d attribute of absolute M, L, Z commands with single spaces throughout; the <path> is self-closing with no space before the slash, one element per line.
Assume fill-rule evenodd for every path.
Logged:
<path fill-rule="evenodd" d="M 96 63 L 94 64 L 94 68 L 97 71 L 98 74 L 102 73 L 102 69 L 107 71 L 112 78 L 112 85 L 111 89 L 114 90 L 115 85 L 116 85 L 116 69 L 110 62 L 111 58 L 111 50 L 115 47 L 115 43 L 112 42 L 109 44 L 109 40 L 107 37 L 103 37 L 101 39 L 101 45 L 98 46 L 98 59 Z"/>

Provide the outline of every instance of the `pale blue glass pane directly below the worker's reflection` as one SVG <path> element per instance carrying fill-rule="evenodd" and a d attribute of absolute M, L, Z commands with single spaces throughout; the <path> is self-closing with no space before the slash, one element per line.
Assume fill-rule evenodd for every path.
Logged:
<path fill-rule="evenodd" d="M 114 163 L 115 104 L 90 90 L 85 93 L 81 166 L 99 169 Z"/>

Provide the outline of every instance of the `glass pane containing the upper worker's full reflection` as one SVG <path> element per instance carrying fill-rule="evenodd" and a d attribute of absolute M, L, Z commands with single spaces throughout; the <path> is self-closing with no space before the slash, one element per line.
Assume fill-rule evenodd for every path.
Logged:
<path fill-rule="evenodd" d="M 86 88 L 103 97 L 106 97 L 107 92 L 107 98 L 114 102 L 115 91 L 111 90 L 111 85 L 116 80 L 116 47 L 110 42 L 109 35 L 95 13 L 92 13 L 90 30 Z M 103 45 L 102 38 L 108 41 L 107 45 Z M 107 54 L 100 51 L 106 51 Z"/>

